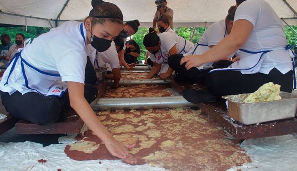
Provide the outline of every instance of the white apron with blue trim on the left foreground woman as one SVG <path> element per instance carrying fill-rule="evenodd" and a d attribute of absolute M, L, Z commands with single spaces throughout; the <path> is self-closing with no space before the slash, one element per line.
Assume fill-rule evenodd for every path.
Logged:
<path fill-rule="evenodd" d="M 85 39 L 82 24 L 80 25 L 80 32 Z M 27 43 L 27 40 L 25 43 Z M 45 96 L 61 97 L 64 92 L 68 91 L 67 83 L 61 81 L 59 74 L 47 73 L 35 68 L 23 59 L 22 50 L 23 48 L 19 49 L 19 52 L 11 59 L 10 65 L 7 67 L 9 74 L 4 86 L 9 84 L 10 87 L 22 94 L 37 92 Z"/>

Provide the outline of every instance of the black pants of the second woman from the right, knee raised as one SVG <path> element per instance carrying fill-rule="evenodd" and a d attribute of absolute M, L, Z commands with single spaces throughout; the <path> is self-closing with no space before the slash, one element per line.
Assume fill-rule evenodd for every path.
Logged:
<path fill-rule="evenodd" d="M 206 74 L 211 69 L 217 69 L 217 68 L 227 68 L 229 65 L 231 65 L 233 62 L 228 60 L 222 60 L 218 61 L 213 65 L 213 68 L 208 70 L 198 70 L 198 68 L 193 67 L 189 70 L 186 69 L 186 63 L 183 65 L 180 65 L 181 58 L 184 56 L 181 54 L 175 54 L 168 57 L 168 65 L 175 70 L 176 75 L 179 78 L 182 78 L 184 82 L 192 82 L 192 83 L 198 83 L 198 84 L 205 84 L 206 82 Z"/>

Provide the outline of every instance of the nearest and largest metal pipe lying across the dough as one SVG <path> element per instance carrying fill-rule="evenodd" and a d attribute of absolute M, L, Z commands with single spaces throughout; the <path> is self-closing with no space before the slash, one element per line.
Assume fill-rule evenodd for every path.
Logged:
<path fill-rule="evenodd" d="M 94 110 L 131 110 L 197 107 L 183 96 L 145 98 L 100 98 Z"/>

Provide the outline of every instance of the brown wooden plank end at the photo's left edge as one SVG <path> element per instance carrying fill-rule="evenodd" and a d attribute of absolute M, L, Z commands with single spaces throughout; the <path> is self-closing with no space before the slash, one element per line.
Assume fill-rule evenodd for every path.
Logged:
<path fill-rule="evenodd" d="M 15 123 L 19 121 L 16 117 L 13 117 L 11 114 L 6 112 L 4 106 L 2 105 L 2 101 L 0 99 L 0 112 L 7 117 L 0 120 L 0 135 L 9 131 L 11 128 L 15 126 Z"/>

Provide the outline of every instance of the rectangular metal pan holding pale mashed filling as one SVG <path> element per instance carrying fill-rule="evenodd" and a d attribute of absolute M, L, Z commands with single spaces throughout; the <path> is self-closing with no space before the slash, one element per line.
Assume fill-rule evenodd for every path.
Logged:
<path fill-rule="evenodd" d="M 244 125 L 288 119 L 296 115 L 297 95 L 280 92 L 281 100 L 243 103 L 248 95 L 240 94 L 222 97 L 228 101 L 229 117 Z"/>

